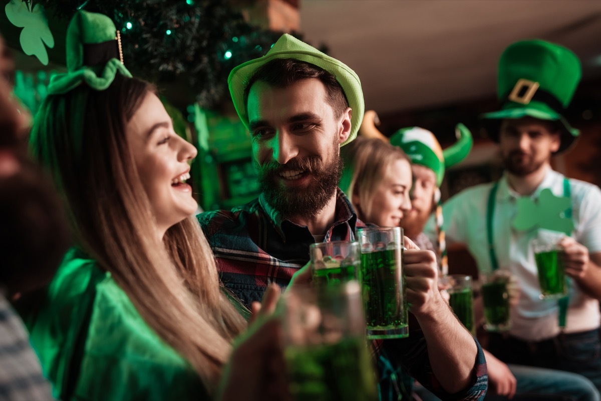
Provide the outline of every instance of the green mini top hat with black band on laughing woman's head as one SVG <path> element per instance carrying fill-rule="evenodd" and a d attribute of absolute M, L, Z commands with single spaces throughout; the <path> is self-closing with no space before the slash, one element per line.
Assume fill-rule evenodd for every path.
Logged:
<path fill-rule="evenodd" d="M 103 91 L 117 72 L 132 77 L 123 65 L 121 36 L 109 17 L 87 11 L 73 16 L 67 28 L 67 70 L 52 77 L 49 94 L 69 92 L 84 82 Z"/>

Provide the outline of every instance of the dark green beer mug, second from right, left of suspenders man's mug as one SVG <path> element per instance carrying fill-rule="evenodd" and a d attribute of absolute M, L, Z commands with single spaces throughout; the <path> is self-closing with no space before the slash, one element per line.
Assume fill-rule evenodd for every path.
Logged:
<path fill-rule="evenodd" d="M 507 331 L 511 328 L 509 292 L 510 275 L 507 271 L 495 271 L 482 276 L 482 303 L 486 330 Z"/>

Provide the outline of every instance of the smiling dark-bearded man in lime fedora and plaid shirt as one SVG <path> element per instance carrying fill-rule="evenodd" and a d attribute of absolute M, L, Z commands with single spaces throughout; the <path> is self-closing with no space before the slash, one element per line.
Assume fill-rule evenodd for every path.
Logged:
<path fill-rule="evenodd" d="M 285 288 L 293 276 L 295 282 L 310 276 L 312 243 L 354 240 L 364 226 L 338 188 L 340 146 L 355 138 L 364 101 L 355 71 L 290 35 L 234 68 L 228 83 L 251 134 L 261 194 L 198 220 L 222 282 L 255 311 L 269 283 Z M 380 396 L 398 399 L 388 367 L 404 364 L 445 399 L 480 399 L 487 386 L 481 348 L 438 292 L 435 255 L 406 244 L 413 248 L 404 262 L 416 322 L 408 339 L 374 344 Z"/>

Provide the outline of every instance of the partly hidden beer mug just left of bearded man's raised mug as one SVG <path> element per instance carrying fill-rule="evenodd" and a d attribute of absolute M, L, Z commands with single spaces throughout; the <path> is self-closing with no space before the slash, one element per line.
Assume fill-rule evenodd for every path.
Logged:
<path fill-rule="evenodd" d="M 359 280 L 359 243 L 356 241 L 331 241 L 311 244 L 311 271 L 313 285 L 337 286 Z"/>

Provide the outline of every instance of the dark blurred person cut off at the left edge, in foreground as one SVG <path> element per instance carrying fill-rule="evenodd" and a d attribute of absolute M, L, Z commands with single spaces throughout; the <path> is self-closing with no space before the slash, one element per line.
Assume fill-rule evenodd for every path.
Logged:
<path fill-rule="evenodd" d="M 50 385 L 8 300 L 49 282 L 69 244 L 58 196 L 26 156 L 28 115 L 11 100 L 14 64 L 0 43 L 0 400 L 49 400 Z"/>

